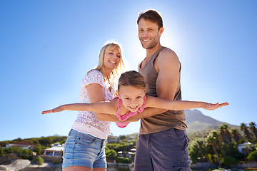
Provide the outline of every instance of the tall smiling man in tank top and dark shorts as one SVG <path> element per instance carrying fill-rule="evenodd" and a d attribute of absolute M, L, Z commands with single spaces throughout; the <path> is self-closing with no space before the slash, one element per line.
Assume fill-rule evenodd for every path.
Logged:
<path fill-rule="evenodd" d="M 161 15 L 154 10 L 145 11 L 139 14 L 137 24 L 139 41 L 146 48 L 146 58 L 138 65 L 148 86 L 146 94 L 181 100 L 181 63 L 176 53 L 161 46 Z M 184 111 L 146 108 L 138 117 L 143 119 L 134 171 L 191 170 Z"/>

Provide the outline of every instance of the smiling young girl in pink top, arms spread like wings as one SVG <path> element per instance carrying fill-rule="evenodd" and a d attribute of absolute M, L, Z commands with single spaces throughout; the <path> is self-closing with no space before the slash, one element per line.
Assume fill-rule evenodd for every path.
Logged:
<path fill-rule="evenodd" d="M 52 110 L 45 110 L 42 114 L 56 113 L 62 110 L 92 111 L 95 113 L 108 113 L 116 115 L 121 121 L 125 121 L 131 116 L 141 113 L 144 108 L 163 108 L 169 110 L 185 110 L 191 108 L 204 108 L 206 110 L 216 110 L 228 103 L 206 103 L 200 101 L 166 100 L 146 95 L 146 83 L 143 76 L 136 71 L 122 73 L 119 78 L 118 95 L 111 101 L 100 103 L 74 103 L 60 105 Z M 129 123 L 116 123 L 121 128 Z"/>

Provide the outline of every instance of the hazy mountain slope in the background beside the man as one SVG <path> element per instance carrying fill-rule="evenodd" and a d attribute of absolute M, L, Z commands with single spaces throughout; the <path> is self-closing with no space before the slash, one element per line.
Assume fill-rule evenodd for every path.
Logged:
<path fill-rule="evenodd" d="M 199 110 L 185 110 L 186 113 L 186 125 L 188 125 L 188 129 L 186 130 L 186 134 L 188 136 L 196 133 L 197 131 L 201 132 L 203 130 L 217 130 L 223 122 L 215 120 L 209 116 L 203 115 Z M 236 128 L 240 131 L 240 127 L 237 125 L 231 125 L 226 123 L 230 128 Z"/>

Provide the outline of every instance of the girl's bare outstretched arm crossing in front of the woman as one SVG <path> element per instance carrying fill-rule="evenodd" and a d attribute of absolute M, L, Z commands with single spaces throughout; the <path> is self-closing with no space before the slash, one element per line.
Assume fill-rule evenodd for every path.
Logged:
<path fill-rule="evenodd" d="M 114 101 L 99 103 L 73 103 L 60 105 L 59 107 L 51 110 L 44 110 L 42 114 L 56 113 L 63 110 L 92 111 L 94 113 L 109 113 L 111 115 L 116 115 L 117 108 Z"/>

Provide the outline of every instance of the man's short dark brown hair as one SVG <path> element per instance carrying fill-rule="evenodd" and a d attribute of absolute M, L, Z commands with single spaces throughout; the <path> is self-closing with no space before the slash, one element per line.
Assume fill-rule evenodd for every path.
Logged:
<path fill-rule="evenodd" d="M 158 24 L 158 29 L 163 27 L 163 20 L 161 18 L 161 14 L 153 9 L 149 9 L 148 11 L 141 12 L 138 15 L 137 24 L 139 23 L 140 19 L 146 19 Z"/>

